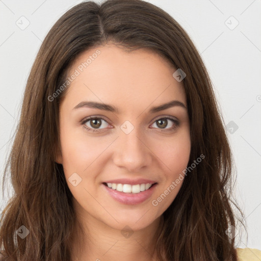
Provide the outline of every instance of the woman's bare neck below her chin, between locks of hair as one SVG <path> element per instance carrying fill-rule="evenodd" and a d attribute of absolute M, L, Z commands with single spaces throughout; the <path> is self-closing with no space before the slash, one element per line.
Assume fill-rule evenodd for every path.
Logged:
<path fill-rule="evenodd" d="M 112 228 L 90 215 L 84 219 L 78 216 L 76 220 L 79 223 L 75 223 L 72 239 L 73 261 L 157 259 L 155 243 L 163 221 L 162 217 L 155 219 L 147 227 L 131 233 Z"/>

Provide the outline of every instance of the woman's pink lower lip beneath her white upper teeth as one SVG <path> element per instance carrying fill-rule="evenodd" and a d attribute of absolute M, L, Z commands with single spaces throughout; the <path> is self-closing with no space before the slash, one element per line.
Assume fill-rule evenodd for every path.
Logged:
<path fill-rule="evenodd" d="M 109 188 L 108 186 L 102 184 L 103 187 L 109 192 L 111 197 L 116 201 L 127 204 L 127 205 L 136 205 L 144 202 L 146 199 L 150 198 L 152 193 L 155 190 L 157 184 L 151 186 L 148 190 L 144 190 L 139 193 L 124 193 L 114 189 Z"/>

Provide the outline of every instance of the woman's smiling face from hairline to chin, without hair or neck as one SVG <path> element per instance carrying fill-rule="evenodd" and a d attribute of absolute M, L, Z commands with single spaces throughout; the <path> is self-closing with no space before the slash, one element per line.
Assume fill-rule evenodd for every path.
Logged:
<path fill-rule="evenodd" d="M 176 197 L 191 141 L 175 71 L 151 51 L 126 53 L 114 45 L 89 49 L 71 66 L 56 162 L 83 220 L 138 230 Z"/>

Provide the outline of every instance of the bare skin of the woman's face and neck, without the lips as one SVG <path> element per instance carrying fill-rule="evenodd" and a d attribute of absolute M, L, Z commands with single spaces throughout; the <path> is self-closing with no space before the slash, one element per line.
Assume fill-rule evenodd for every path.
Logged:
<path fill-rule="evenodd" d="M 100 54 L 81 72 L 79 65 L 97 49 Z M 80 74 L 60 105 L 62 151 L 56 159 L 63 165 L 77 221 L 87 235 L 78 238 L 74 231 L 73 260 L 151 260 L 155 231 L 183 180 L 164 199 L 157 199 L 186 169 L 191 141 L 187 108 L 149 110 L 171 100 L 187 107 L 184 87 L 172 76 L 175 68 L 145 49 L 127 53 L 113 44 L 99 46 L 77 57 L 69 75 L 75 69 Z M 73 109 L 82 101 L 109 103 L 118 113 Z M 89 116 L 101 118 L 96 125 L 91 120 L 81 124 Z M 167 116 L 179 124 L 164 119 Z M 133 130 L 126 134 L 122 124 Z M 73 173 L 82 179 L 75 187 L 68 180 Z M 156 185 L 142 203 L 124 204 L 112 198 L 102 184 L 119 178 L 146 178 Z M 125 226 L 131 228 L 131 234 L 122 231 Z"/>

